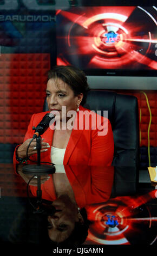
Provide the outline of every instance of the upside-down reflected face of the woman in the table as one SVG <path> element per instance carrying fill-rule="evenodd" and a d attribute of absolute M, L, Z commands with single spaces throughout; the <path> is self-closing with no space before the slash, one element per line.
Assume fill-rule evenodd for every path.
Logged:
<path fill-rule="evenodd" d="M 51 240 L 55 242 L 62 242 L 66 240 L 73 232 L 75 222 L 83 220 L 78 215 L 76 206 L 71 202 L 62 202 L 56 200 L 53 202 L 56 212 L 53 216 L 48 216 L 48 235 Z"/>

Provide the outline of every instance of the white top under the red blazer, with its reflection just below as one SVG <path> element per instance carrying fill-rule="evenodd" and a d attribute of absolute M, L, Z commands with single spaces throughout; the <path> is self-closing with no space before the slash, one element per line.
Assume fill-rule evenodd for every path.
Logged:
<path fill-rule="evenodd" d="M 58 149 L 51 147 L 51 163 L 55 164 L 56 173 L 66 173 L 63 166 L 65 151 L 66 149 Z"/>

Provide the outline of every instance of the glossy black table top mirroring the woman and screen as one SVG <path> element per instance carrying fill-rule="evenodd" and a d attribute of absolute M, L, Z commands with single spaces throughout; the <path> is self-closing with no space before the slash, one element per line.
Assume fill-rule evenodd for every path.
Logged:
<path fill-rule="evenodd" d="M 42 243 L 57 248 L 56 237 L 53 241 L 54 236 L 49 235 L 52 223 L 48 216 L 57 220 L 64 208 L 72 219 L 77 208 L 86 223 L 86 229 L 77 229 L 83 241 L 65 240 L 66 245 L 155 245 L 155 187 L 147 172 L 145 177 L 141 173 L 136 182 L 132 168 L 123 168 L 126 172 L 121 176 L 114 167 L 56 166 L 55 173 L 40 177 L 42 194 L 37 198 L 37 175 L 31 179 L 32 175 L 24 174 L 22 167 L 16 174 L 12 164 L 1 164 L 1 244 Z M 65 194 L 73 198 L 76 208 L 64 198 Z M 58 195 L 64 203 L 58 203 Z"/>

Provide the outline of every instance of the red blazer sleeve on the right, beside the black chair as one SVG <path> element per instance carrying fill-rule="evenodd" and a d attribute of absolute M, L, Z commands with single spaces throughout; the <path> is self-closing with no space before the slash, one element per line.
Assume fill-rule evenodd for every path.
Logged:
<path fill-rule="evenodd" d="M 110 166 L 113 161 L 114 139 L 110 121 L 102 118 L 101 127 L 103 127 L 101 130 L 91 130 L 91 151 L 88 163 L 91 166 Z"/>

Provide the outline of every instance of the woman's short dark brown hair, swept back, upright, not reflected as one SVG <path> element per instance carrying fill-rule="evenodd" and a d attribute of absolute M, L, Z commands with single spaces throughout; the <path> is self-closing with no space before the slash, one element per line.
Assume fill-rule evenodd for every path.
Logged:
<path fill-rule="evenodd" d="M 84 74 L 82 70 L 75 68 L 75 66 L 54 66 L 48 71 L 48 80 L 51 78 L 60 78 L 63 82 L 67 83 L 73 90 L 75 96 L 83 93 L 81 105 L 84 105 L 87 93 L 90 89 L 86 74 Z"/>

